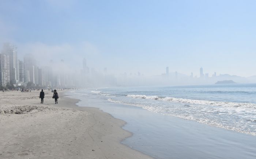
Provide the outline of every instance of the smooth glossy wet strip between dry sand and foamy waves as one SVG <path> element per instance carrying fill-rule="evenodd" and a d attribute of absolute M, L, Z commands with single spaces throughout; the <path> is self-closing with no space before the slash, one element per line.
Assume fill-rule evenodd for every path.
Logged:
<path fill-rule="evenodd" d="M 256 138 L 253 135 L 108 102 L 109 97 L 86 91 L 79 93 L 70 94 L 82 100 L 78 106 L 100 108 L 126 121 L 123 129 L 133 135 L 122 143 L 154 158 L 255 158 Z"/>

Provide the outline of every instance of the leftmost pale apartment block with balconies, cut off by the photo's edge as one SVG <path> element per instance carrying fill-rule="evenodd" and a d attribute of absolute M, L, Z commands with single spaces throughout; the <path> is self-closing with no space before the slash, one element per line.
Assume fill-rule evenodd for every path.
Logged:
<path fill-rule="evenodd" d="M 0 84 L 5 87 L 10 83 L 10 59 L 9 55 L 0 54 Z"/>

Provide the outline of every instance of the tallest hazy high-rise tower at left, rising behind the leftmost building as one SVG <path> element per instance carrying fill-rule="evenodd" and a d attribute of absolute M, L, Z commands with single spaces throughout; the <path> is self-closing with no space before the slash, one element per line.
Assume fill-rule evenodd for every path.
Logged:
<path fill-rule="evenodd" d="M 10 82 L 16 84 L 19 82 L 17 47 L 11 43 L 4 43 L 2 53 L 9 55 Z"/>

